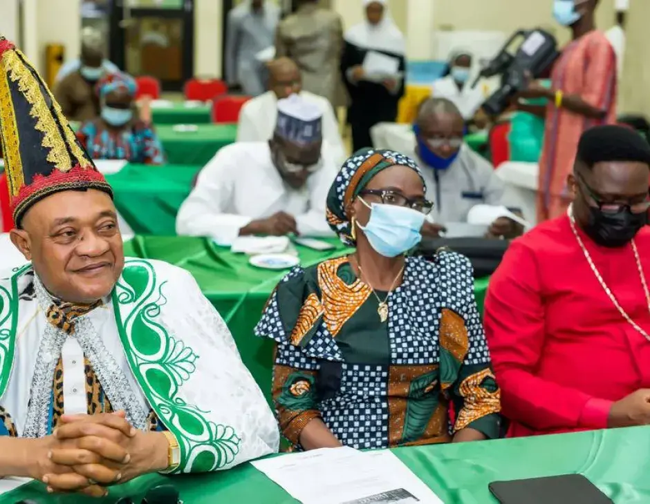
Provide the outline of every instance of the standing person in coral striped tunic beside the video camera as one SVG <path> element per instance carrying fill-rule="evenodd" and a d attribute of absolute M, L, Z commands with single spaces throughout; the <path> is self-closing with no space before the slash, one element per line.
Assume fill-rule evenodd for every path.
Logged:
<path fill-rule="evenodd" d="M 546 98 L 548 104 L 515 101 L 525 112 L 546 119 L 539 160 L 537 222 L 564 215 L 570 203 L 567 175 L 573 170 L 580 135 L 600 124 L 616 122 L 617 61 L 604 32 L 596 30 L 598 0 L 555 0 L 553 14 L 570 28 L 573 41 L 553 66 L 552 84 L 531 81 L 523 98 Z"/>

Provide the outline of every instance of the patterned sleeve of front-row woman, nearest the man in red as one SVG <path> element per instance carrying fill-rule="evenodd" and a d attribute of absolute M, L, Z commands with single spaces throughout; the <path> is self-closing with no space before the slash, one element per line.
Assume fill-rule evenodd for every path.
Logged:
<path fill-rule="evenodd" d="M 498 438 L 501 391 L 474 299 L 472 266 L 467 258 L 447 255 L 456 263 L 458 312 L 443 309 L 440 318 L 440 381 L 454 402 L 453 430 L 470 428 L 488 439 Z"/>

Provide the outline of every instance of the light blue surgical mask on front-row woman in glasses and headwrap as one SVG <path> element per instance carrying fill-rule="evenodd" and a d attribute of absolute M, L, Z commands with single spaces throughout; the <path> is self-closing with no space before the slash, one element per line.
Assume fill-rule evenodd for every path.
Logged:
<path fill-rule="evenodd" d="M 425 214 L 404 206 L 369 205 L 361 197 L 359 199 L 369 207 L 370 220 L 365 226 L 357 225 L 375 251 L 385 258 L 396 258 L 420 243 Z"/>

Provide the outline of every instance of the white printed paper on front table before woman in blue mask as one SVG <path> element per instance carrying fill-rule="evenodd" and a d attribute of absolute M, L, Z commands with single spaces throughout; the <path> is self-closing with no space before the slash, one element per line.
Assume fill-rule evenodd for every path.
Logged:
<path fill-rule="evenodd" d="M 303 504 L 443 504 L 390 452 L 324 448 L 252 465 Z"/>

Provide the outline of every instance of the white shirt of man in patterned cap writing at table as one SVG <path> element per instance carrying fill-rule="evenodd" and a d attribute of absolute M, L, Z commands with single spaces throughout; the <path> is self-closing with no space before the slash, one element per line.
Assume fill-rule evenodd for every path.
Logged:
<path fill-rule="evenodd" d="M 272 163 L 268 142 L 225 146 L 203 168 L 196 187 L 180 206 L 176 232 L 232 244 L 239 230 L 253 220 L 286 212 L 295 217 L 301 235 L 331 235 L 325 205 L 339 168 L 326 142 L 320 164 L 305 186 L 294 189 Z"/>

